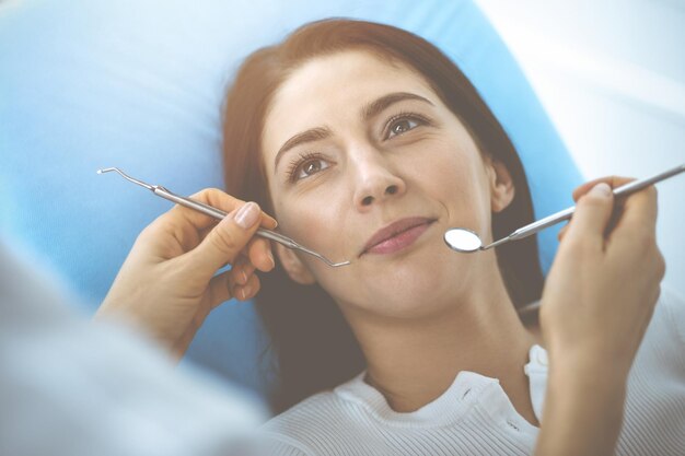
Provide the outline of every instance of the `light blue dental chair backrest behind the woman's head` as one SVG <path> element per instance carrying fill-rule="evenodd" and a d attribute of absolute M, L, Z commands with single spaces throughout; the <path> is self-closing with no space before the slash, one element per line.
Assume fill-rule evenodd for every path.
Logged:
<path fill-rule="evenodd" d="M 95 169 L 119 166 L 179 194 L 221 187 L 220 107 L 231 72 L 311 20 L 415 32 L 474 82 L 522 156 L 537 217 L 581 182 L 515 61 L 466 0 L 74 0 L 0 3 L 0 229 L 42 254 L 93 311 L 137 234 L 170 203 Z M 545 271 L 556 230 L 542 234 Z M 251 305 L 211 314 L 189 350 L 258 391 Z"/>

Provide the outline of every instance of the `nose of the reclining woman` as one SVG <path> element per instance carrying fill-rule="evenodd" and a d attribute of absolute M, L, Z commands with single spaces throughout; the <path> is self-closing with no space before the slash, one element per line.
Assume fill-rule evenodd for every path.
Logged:
<path fill-rule="evenodd" d="M 359 161 L 357 168 L 355 204 L 359 209 L 368 209 L 390 197 L 397 197 L 405 192 L 404 179 L 382 160 Z"/>

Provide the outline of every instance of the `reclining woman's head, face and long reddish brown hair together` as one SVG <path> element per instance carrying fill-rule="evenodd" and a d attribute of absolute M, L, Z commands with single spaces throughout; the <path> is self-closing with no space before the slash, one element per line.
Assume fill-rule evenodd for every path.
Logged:
<path fill-rule="evenodd" d="M 440 231 L 457 222 L 483 234 L 490 230 L 490 190 L 467 184 L 479 178 L 483 186 L 496 178 L 495 169 L 503 171 L 498 188 L 513 199 L 492 211 L 488 236 L 533 220 L 519 157 L 471 82 L 432 45 L 394 27 L 324 21 L 255 52 L 229 92 L 225 120 L 228 192 L 275 211 L 286 234 L 334 259 L 365 260 L 332 273 L 283 252 L 282 266 L 263 279 L 256 303 L 278 356 L 276 410 L 364 366 L 330 294 L 341 300 L 342 290 L 359 291 L 344 299 L 351 301 L 348 314 L 352 308 L 375 313 L 365 304 L 374 302 L 384 303 L 383 313 L 406 317 L 440 306 L 426 290 L 468 278 L 466 260 L 438 242 Z M 503 166 L 489 166 L 486 175 L 490 157 Z M 390 196 L 402 203 L 379 209 L 380 199 Z M 413 230 L 392 236 L 406 229 Z M 415 241 L 430 249 L 406 261 L 416 248 L 399 247 Z M 393 254 L 397 248 L 402 252 Z M 539 299 L 543 277 L 534 238 L 481 261 L 486 258 L 491 271 L 501 270 L 502 294 L 506 302 L 511 296 L 512 311 Z M 437 271 L 434 261 L 452 266 Z M 379 274 L 378 268 L 392 273 Z M 392 290 L 403 299 L 390 296 Z"/>

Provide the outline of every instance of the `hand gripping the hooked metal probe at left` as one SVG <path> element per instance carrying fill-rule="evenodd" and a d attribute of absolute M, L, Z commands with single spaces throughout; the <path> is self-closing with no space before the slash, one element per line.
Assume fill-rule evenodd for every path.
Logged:
<path fill-rule="evenodd" d="M 216 219 L 176 206 L 147 226 L 124 262 L 95 318 L 123 317 L 140 326 L 176 356 L 187 350 L 209 312 L 259 291 L 255 269 L 269 271 L 269 242 L 253 237 L 276 220 L 254 203 L 221 190 L 191 197 L 229 215 Z M 227 264 L 230 271 L 214 277 Z"/>

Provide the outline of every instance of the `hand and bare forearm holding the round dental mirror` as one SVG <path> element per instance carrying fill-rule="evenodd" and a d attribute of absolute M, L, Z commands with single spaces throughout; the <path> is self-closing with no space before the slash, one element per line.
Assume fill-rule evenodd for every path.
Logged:
<path fill-rule="evenodd" d="M 614 454 L 628 373 L 665 272 L 654 187 L 617 202 L 611 192 L 631 180 L 579 187 L 559 233 L 539 313 L 549 374 L 536 455 Z"/>

